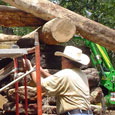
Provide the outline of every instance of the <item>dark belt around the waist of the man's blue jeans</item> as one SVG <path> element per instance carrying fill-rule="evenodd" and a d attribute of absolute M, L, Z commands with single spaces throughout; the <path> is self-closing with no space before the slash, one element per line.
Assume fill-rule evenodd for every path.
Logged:
<path fill-rule="evenodd" d="M 68 115 L 68 113 L 70 114 L 93 114 L 91 110 L 80 110 L 80 109 L 75 109 L 75 110 L 71 110 L 71 111 L 67 111 L 65 113 L 62 113 L 60 115 Z"/>

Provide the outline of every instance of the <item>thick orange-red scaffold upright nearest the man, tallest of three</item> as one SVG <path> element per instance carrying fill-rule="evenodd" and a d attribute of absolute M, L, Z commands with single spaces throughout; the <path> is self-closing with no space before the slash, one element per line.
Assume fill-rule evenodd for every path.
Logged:
<path fill-rule="evenodd" d="M 37 77 L 37 105 L 38 115 L 42 115 L 42 96 L 41 96 L 41 78 L 40 78 L 40 47 L 38 33 L 35 33 L 35 58 L 36 58 L 36 77 Z"/>

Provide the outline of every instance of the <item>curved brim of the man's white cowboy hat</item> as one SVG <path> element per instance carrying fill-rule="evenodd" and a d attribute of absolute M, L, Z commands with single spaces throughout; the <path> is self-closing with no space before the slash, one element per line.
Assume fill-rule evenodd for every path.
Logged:
<path fill-rule="evenodd" d="M 68 56 L 68 55 L 66 55 L 66 54 L 64 54 L 62 52 L 59 52 L 59 51 L 55 52 L 54 55 L 55 56 L 62 56 L 62 57 L 68 58 L 70 60 L 73 60 L 75 62 L 81 63 L 83 65 L 88 65 L 89 62 L 90 62 L 90 59 L 89 59 L 89 57 L 86 54 L 81 54 L 79 60 L 76 60 L 76 59 L 74 59 L 74 58 L 72 58 L 72 57 L 70 57 L 70 56 Z"/>

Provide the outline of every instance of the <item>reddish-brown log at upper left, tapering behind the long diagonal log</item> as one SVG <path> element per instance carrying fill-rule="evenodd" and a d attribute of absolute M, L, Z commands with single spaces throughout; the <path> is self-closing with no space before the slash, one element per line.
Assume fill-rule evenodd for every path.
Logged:
<path fill-rule="evenodd" d="M 46 21 L 15 7 L 0 5 L 0 25 L 6 27 L 41 26 Z"/>

